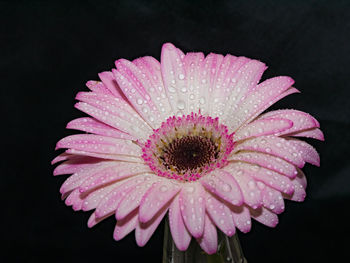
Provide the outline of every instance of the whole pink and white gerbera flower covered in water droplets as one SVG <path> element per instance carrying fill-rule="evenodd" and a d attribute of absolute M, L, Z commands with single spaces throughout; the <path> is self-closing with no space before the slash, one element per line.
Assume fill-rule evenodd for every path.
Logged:
<path fill-rule="evenodd" d="M 168 213 L 179 250 L 191 237 L 209 254 L 218 227 L 228 236 L 248 232 L 251 218 L 278 223 L 283 199 L 303 201 L 305 162 L 319 165 L 309 144 L 323 140 L 307 113 L 262 114 L 298 92 L 290 77 L 259 83 L 264 63 L 232 55 L 184 54 L 164 44 L 153 57 L 116 61 L 116 69 L 87 82 L 68 123 L 84 131 L 57 143 L 65 153 L 55 175 L 72 174 L 60 191 L 74 210 L 94 210 L 92 227 L 115 214 L 114 238 L 135 229 L 144 246 Z"/>

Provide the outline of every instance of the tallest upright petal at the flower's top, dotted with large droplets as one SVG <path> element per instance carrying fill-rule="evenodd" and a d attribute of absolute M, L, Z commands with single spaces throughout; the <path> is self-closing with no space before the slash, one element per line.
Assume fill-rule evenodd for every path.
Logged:
<path fill-rule="evenodd" d="M 189 114 L 187 103 L 188 87 L 186 87 L 186 71 L 182 52 L 172 44 L 166 43 L 162 47 L 160 62 L 163 83 L 170 105 L 174 112 L 180 115 Z"/>

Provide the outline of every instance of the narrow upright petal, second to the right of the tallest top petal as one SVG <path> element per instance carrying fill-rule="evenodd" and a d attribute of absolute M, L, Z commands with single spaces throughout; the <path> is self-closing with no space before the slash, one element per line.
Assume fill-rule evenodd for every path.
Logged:
<path fill-rule="evenodd" d="M 197 83 L 200 90 L 199 92 L 201 93 L 199 98 L 201 114 L 210 114 L 210 107 L 212 104 L 210 94 L 213 92 L 214 80 L 223 58 L 224 57 L 220 54 L 210 53 L 201 63 L 202 65 L 199 72 L 200 81 Z"/>

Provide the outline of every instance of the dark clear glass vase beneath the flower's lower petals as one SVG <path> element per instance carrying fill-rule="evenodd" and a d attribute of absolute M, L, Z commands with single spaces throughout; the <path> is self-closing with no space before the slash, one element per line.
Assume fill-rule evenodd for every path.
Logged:
<path fill-rule="evenodd" d="M 163 263 L 247 263 L 244 258 L 237 234 L 228 237 L 218 230 L 218 249 L 213 255 L 208 255 L 192 238 L 186 251 L 177 249 L 165 220 L 163 241 Z"/>

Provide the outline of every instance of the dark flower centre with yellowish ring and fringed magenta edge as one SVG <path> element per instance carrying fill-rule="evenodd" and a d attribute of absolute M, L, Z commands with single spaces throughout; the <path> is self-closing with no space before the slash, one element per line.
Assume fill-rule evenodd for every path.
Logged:
<path fill-rule="evenodd" d="M 233 149 L 232 135 L 218 118 L 170 117 L 145 143 L 143 159 L 158 176 L 195 181 L 222 167 Z"/>

